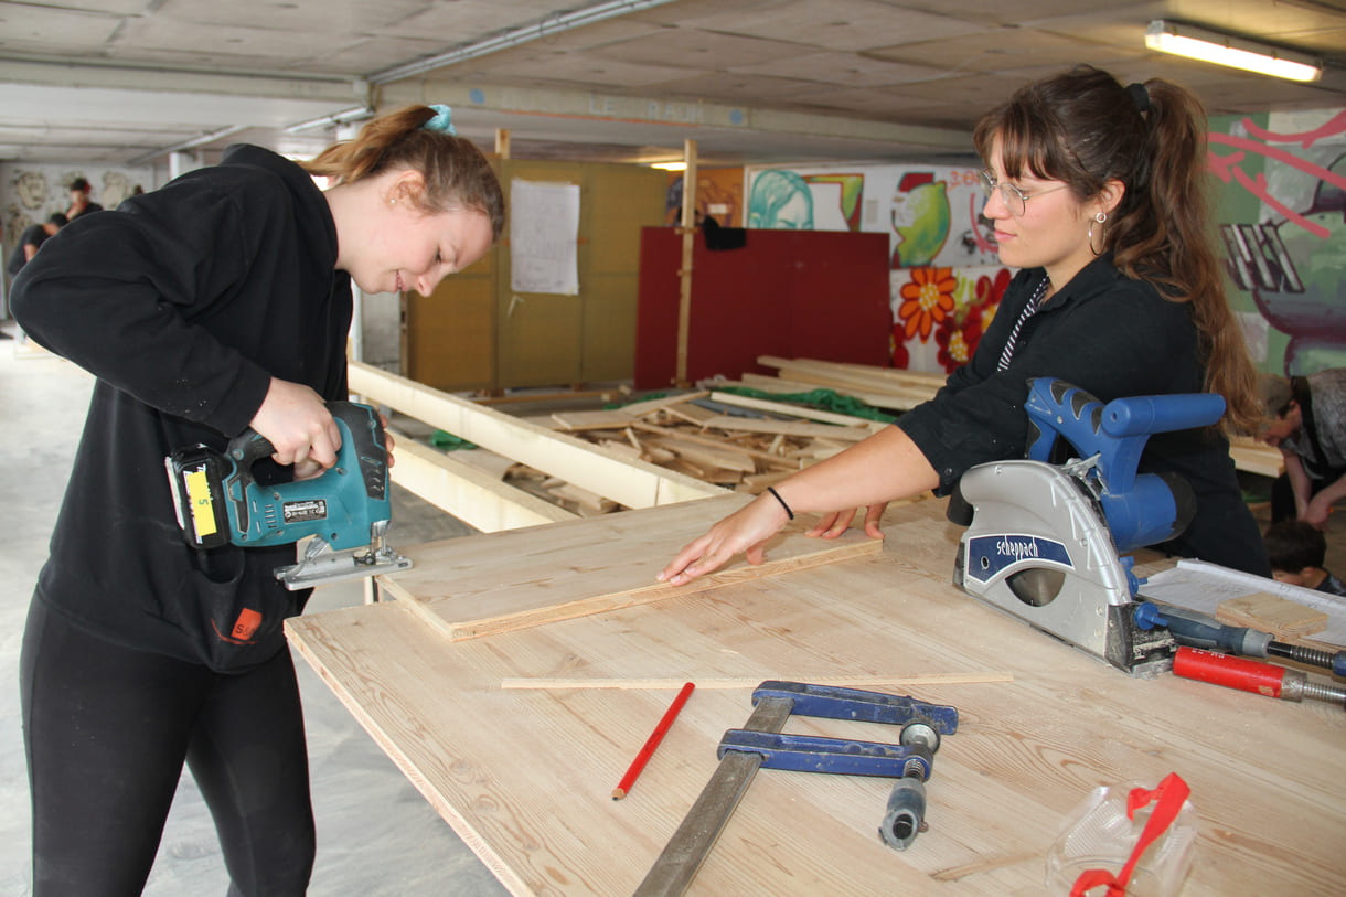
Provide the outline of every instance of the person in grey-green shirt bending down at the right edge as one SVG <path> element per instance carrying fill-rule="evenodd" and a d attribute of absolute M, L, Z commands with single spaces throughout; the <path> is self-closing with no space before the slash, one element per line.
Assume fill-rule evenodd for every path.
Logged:
<path fill-rule="evenodd" d="M 1346 368 L 1307 377 L 1264 377 L 1260 439 L 1280 448 L 1285 473 L 1272 484 L 1271 519 L 1326 527 L 1346 497 Z"/>

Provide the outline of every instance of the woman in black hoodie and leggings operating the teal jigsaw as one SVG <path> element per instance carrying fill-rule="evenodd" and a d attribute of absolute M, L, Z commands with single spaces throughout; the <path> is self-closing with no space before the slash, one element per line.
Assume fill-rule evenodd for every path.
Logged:
<path fill-rule="evenodd" d="M 351 283 L 428 296 L 502 228 L 486 158 L 447 108 L 417 105 L 307 163 L 230 147 L 71 221 L 20 272 L 20 325 L 97 377 L 20 653 L 35 897 L 140 893 L 184 762 L 229 893 L 304 893 L 315 832 L 283 624 L 310 593 L 273 575 L 295 547 L 188 545 L 155 471 L 249 427 L 276 450 L 260 481 L 330 467 Z"/>

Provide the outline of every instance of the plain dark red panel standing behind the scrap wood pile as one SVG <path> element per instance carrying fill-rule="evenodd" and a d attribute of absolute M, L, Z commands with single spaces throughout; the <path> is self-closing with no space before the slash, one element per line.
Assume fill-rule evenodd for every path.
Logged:
<path fill-rule="evenodd" d="M 635 388 L 662 389 L 677 365 L 682 237 L 641 233 Z M 888 364 L 888 238 L 882 233 L 748 230 L 711 252 L 696 234 L 688 380 L 767 369 L 758 356 Z"/>

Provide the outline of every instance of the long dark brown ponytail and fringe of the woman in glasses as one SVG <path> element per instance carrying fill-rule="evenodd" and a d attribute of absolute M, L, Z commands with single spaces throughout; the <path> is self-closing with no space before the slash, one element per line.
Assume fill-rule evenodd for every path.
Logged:
<path fill-rule="evenodd" d="M 973 133 L 989 158 L 1000 137 L 1005 175 L 1061 180 L 1084 202 L 1109 180 L 1125 185 L 1102 229 L 1101 251 L 1128 277 L 1191 306 L 1206 389 L 1225 397 L 1225 427 L 1253 432 L 1261 416 L 1257 374 L 1229 308 L 1209 213 L 1206 112 L 1190 92 L 1159 78 L 1123 88 L 1079 66 L 1020 88 Z"/>

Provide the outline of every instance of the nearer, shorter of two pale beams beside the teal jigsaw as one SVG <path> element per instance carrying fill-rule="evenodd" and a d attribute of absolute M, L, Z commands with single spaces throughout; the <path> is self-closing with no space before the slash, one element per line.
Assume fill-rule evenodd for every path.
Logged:
<path fill-rule="evenodd" d="M 564 508 L 507 486 L 479 467 L 409 436 L 394 432 L 393 438 L 397 440 L 397 463 L 389 471 L 393 482 L 482 532 L 575 520 Z"/>

